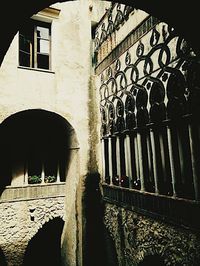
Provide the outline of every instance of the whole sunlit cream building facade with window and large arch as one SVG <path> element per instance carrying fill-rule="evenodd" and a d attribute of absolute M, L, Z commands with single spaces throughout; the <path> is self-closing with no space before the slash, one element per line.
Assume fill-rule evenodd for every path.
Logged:
<path fill-rule="evenodd" d="M 58 217 L 65 221 L 63 265 L 82 265 L 85 179 L 96 171 L 89 123 L 94 12 L 88 2 L 47 6 L 22 25 L 1 65 L 0 247 L 6 265 L 22 265 L 29 242 Z M 26 35 L 31 23 L 37 43 Z M 30 55 L 34 45 L 37 58 Z"/>

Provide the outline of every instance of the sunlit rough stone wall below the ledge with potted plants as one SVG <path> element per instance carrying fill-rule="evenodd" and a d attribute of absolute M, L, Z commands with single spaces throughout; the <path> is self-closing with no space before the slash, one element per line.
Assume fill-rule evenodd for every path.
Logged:
<path fill-rule="evenodd" d="M 1 249 L 8 266 L 20 266 L 28 242 L 38 230 L 53 218 L 65 220 L 64 197 L 4 202 L 0 213 Z"/>

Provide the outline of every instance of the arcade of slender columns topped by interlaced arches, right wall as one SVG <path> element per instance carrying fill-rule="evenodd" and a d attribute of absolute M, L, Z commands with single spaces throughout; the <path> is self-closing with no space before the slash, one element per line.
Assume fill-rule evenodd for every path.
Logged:
<path fill-rule="evenodd" d="M 157 21 L 99 77 L 103 182 L 198 202 L 200 64 L 186 41 Z"/>

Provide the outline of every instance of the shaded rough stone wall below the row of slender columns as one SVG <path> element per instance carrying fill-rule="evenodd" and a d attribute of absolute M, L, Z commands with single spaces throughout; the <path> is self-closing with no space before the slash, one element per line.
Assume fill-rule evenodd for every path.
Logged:
<path fill-rule="evenodd" d="M 167 266 L 199 265 L 198 234 L 107 203 L 104 223 L 114 240 L 119 265 L 135 266 L 155 254 Z"/>

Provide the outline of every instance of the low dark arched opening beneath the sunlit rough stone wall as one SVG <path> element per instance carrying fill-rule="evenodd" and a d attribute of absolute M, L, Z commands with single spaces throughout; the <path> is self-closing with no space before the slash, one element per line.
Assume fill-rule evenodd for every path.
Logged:
<path fill-rule="evenodd" d="M 38 231 L 28 244 L 23 266 L 61 266 L 63 225 L 61 218 L 55 218 Z"/>

